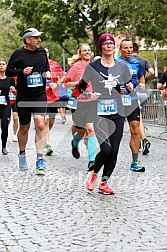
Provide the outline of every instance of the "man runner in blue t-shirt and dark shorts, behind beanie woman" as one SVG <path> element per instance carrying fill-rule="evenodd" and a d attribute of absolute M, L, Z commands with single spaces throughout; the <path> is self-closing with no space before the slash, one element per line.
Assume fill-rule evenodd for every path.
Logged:
<path fill-rule="evenodd" d="M 130 171 L 145 172 L 145 167 L 139 160 L 139 146 L 140 146 L 140 107 L 139 97 L 137 96 L 138 85 L 145 89 L 145 79 L 143 75 L 141 63 L 132 57 L 133 43 L 129 39 L 123 39 L 120 43 L 121 55 L 116 58 L 117 61 L 125 63 L 132 76 L 132 83 L 134 86 L 133 95 L 129 96 L 129 90 L 126 90 L 124 96 L 125 114 L 130 128 L 130 149 L 132 153 L 132 163 Z M 142 91 L 143 92 L 143 91 Z"/>

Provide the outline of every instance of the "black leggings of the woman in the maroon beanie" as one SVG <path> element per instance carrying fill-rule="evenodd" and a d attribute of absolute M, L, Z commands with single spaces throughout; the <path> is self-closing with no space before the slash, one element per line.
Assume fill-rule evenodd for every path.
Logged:
<path fill-rule="evenodd" d="M 123 136 L 124 117 L 107 119 L 97 117 L 94 121 L 94 129 L 100 145 L 100 152 L 96 155 L 94 172 L 98 173 L 104 165 L 102 181 L 107 181 L 114 171 L 119 145 Z"/>

